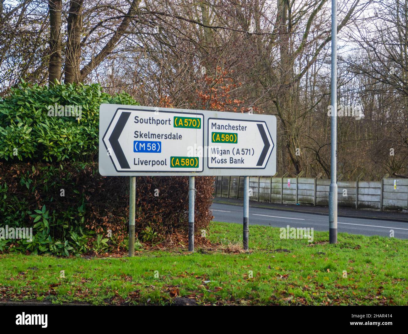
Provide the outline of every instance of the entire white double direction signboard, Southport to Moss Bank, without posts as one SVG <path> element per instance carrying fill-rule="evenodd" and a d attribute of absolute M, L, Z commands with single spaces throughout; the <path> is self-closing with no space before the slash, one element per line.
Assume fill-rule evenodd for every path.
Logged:
<path fill-rule="evenodd" d="M 99 171 L 114 175 L 274 175 L 276 117 L 102 104 Z"/>

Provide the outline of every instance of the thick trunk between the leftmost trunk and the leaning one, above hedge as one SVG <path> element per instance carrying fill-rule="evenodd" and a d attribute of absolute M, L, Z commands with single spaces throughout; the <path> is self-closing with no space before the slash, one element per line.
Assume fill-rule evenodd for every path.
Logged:
<path fill-rule="evenodd" d="M 81 61 L 81 30 L 82 30 L 82 9 L 83 0 L 71 0 L 68 14 L 68 40 L 65 60 L 65 79 L 66 84 L 80 82 L 80 61 Z"/>

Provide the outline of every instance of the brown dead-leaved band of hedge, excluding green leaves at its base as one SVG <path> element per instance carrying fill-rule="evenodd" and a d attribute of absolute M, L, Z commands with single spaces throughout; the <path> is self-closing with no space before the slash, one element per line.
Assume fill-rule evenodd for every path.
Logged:
<path fill-rule="evenodd" d="M 112 230 L 117 244 L 128 235 L 129 177 L 103 177 L 98 172 L 98 162 L 0 162 L 0 185 L 3 184 L 7 184 L 7 196 L 6 209 L 0 210 L 1 220 L 10 215 L 9 208 L 33 212 L 46 205 L 53 221 L 67 221 L 69 226 L 100 234 Z M 195 187 L 195 229 L 199 231 L 213 218 L 213 177 L 196 177 Z M 64 196 L 60 196 L 61 189 Z M 78 212 L 83 215 L 83 222 Z M 33 226 L 29 214 L 18 219 L 18 226 Z M 136 233 L 148 226 L 175 244 L 186 243 L 182 233 L 188 228 L 188 177 L 136 178 Z M 52 233 L 58 239 L 62 228 L 56 226 Z M 196 242 L 204 245 L 209 241 L 196 237 Z"/>

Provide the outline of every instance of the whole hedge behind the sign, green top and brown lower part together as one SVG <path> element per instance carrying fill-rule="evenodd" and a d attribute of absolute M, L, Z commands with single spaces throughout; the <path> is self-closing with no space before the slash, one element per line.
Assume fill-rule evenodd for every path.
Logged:
<path fill-rule="evenodd" d="M 49 117 L 55 102 L 82 105 L 81 119 Z M 1 252 L 68 256 L 126 248 L 129 177 L 103 177 L 95 162 L 101 103 L 137 104 L 97 84 L 23 84 L 0 101 L 0 227 L 33 228 L 31 242 L 0 239 Z M 136 184 L 137 232 L 187 229 L 188 177 L 137 177 Z M 195 184 L 200 230 L 212 219 L 213 178 L 197 177 Z"/>

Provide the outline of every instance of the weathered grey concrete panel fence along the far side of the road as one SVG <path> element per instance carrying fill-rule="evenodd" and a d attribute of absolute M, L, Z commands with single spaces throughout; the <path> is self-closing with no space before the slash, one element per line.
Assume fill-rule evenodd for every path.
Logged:
<path fill-rule="evenodd" d="M 328 205 L 330 180 L 310 177 L 249 178 L 251 201 Z M 244 177 L 218 176 L 214 181 L 216 197 L 244 197 Z M 381 181 L 337 181 L 340 207 L 368 210 L 408 210 L 408 179 L 384 178 Z"/>

